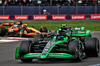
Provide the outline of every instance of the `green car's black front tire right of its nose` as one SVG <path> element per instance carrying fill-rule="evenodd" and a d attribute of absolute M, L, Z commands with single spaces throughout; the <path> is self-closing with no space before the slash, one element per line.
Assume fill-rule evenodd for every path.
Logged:
<path fill-rule="evenodd" d="M 69 43 L 68 45 L 68 51 L 71 55 L 74 55 L 75 59 L 72 59 L 71 61 L 75 61 L 75 62 L 80 62 L 82 60 L 82 55 L 79 55 L 79 51 L 81 50 L 81 54 L 83 54 L 82 52 L 82 45 L 81 45 L 81 49 L 79 50 L 79 41 L 78 40 L 73 40 Z"/>

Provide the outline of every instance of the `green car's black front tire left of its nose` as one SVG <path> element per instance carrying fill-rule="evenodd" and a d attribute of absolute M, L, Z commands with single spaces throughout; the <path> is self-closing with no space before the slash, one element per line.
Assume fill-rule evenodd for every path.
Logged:
<path fill-rule="evenodd" d="M 19 47 L 19 55 L 20 55 L 20 60 L 22 62 L 31 62 L 33 58 L 30 58 L 30 59 L 23 59 L 22 57 L 25 55 L 25 54 L 28 54 L 31 52 L 31 41 L 30 40 L 25 40 L 25 41 L 22 41 L 20 47 Z"/>

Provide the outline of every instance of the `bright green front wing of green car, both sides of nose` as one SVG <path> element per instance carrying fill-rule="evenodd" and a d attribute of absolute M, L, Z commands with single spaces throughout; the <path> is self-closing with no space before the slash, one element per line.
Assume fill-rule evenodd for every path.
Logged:
<path fill-rule="evenodd" d="M 41 58 L 42 53 L 28 53 L 23 58 Z M 74 58 L 73 55 L 67 53 L 49 53 L 46 58 Z M 43 59 L 43 58 L 42 58 Z"/>

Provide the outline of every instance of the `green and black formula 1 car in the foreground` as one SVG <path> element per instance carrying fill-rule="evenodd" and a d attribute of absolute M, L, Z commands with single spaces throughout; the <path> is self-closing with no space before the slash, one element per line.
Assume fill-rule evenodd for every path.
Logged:
<path fill-rule="evenodd" d="M 87 36 L 87 33 L 73 33 L 59 30 L 50 33 L 47 37 L 36 35 L 34 40 L 25 40 L 16 49 L 16 59 L 22 62 L 31 62 L 32 59 L 71 59 L 81 61 L 85 56 L 98 57 L 99 41 L 97 38 L 87 37 L 84 42 L 78 36 Z M 82 35 L 81 35 L 82 34 Z"/>

